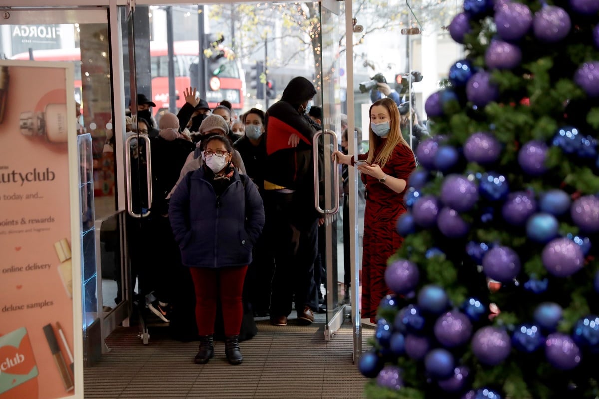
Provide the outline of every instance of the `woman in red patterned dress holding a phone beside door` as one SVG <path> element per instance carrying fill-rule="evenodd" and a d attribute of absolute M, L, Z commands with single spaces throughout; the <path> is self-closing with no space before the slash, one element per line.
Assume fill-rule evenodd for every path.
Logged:
<path fill-rule="evenodd" d="M 401 135 L 400 112 L 395 102 L 384 98 L 370 106 L 368 153 L 359 154 L 358 161 L 341 151 L 333 155 L 339 163 L 358 167 L 366 184 L 362 318 L 376 322 L 380 300 L 391 294 L 385 284 L 385 269 L 403 242 L 395 223 L 406 213 L 404 193 L 410 173 L 416 168 L 412 148 Z"/>

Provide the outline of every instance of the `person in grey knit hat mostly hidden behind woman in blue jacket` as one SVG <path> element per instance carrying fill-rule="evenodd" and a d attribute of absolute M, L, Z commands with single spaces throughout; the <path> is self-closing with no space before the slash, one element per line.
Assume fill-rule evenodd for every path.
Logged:
<path fill-rule="evenodd" d="M 226 123 L 225 119 L 220 115 L 214 115 L 214 114 L 208 115 L 207 117 L 204 118 L 204 120 L 202 121 L 202 124 L 199 125 L 199 133 L 202 135 L 202 137 L 209 137 L 209 136 L 213 136 L 213 135 L 221 135 L 221 136 L 226 137 L 226 134 L 228 132 L 229 132 L 229 124 Z M 175 189 L 177 188 L 177 185 L 179 185 L 179 182 L 181 181 L 181 179 L 183 179 L 183 177 L 187 174 L 187 172 L 196 170 L 196 169 L 198 169 L 198 167 L 202 166 L 204 161 L 202 161 L 202 157 L 200 156 L 201 153 L 202 153 L 202 140 L 200 140 L 196 143 L 195 150 L 192 151 L 192 153 L 190 153 L 189 156 L 187 156 L 185 165 L 183 165 L 183 168 L 181 169 L 181 174 L 179 175 L 179 180 L 177 180 L 176 184 L 174 185 L 171 192 L 168 194 L 167 198 L 170 198 L 171 195 L 173 195 L 173 193 L 175 192 Z M 241 159 L 241 155 L 237 150 L 235 150 L 235 152 L 233 153 L 231 162 L 233 165 L 235 165 L 235 167 L 237 167 L 237 170 L 239 173 L 241 173 L 242 175 L 246 174 L 246 167 L 245 167 L 245 165 L 243 165 L 243 160 Z"/>

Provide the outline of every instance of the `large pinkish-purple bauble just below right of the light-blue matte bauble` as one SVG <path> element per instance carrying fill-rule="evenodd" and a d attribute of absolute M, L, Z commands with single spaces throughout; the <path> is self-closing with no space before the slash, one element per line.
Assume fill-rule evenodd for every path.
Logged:
<path fill-rule="evenodd" d="M 582 269 L 585 257 L 579 245 L 564 237 L 556 238 L 545 245 L 541 260 L 547 272 L 553 276 L 568 277 Z"/>

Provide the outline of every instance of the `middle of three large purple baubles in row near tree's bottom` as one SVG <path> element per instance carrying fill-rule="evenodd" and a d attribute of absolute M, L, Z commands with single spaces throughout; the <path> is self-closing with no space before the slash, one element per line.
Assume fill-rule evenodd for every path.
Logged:
<path fill-rule="evenodd" d="M 496 366 L 510 355 L 512 343 L 506 331 L 497 327 L 483 327 L 472 337 L 472 352 L 482 364 Z"/>

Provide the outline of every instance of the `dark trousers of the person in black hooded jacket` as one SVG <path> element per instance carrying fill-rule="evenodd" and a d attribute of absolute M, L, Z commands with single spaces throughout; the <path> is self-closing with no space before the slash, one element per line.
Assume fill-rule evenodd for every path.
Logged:
<path fill-rule="evenodd" d="M 275 263 L 270 315 L 288 316 L 292 301 L 299 312 L 305 306 L 318 309 L 314 284 L 318 245 L 316 212 L 310 204 L 299 200 L 297 192 L 284 194 L 274 190 L 264 194 L 264 212 L 262 234 L 274 251 Z"/>

